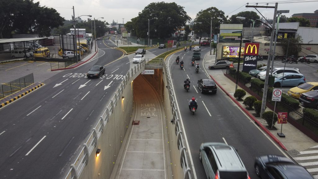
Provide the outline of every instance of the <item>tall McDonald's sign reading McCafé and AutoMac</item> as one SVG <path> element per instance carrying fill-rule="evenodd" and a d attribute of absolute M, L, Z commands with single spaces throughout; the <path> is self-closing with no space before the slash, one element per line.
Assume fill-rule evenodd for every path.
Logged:
<path fill-rule="evenodd" d="M 258 51 L 259 43 L 245 43 L 245 53 L 242 71 L 249 72 L 250 70 L 256 69 Z"/>

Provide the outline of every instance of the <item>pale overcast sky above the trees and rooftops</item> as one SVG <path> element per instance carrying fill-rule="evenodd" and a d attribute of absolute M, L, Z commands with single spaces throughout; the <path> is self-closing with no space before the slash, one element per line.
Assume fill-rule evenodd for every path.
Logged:
<path fill-rule="evenodd" d="M 297 2 L 298 1 L 298 2 Z M 314 13 L 318 10 L 318 2 L 302 2 L 301 1 L 313 1 L 313 0 L 280 0 L 278 3 L 278 10 L 289 10 L 290 13 L 286 13 L 287 17 L 291 17 L 296 13 Z M 112 23 L 113 20 L 118 23 L 126 23 L 130 21 L 131 18 L 138 16 L 144 7 L 152 2 L 161 2 L 153 0 L 34 0 L 34 2 L 40 2 L 40 6 L 46 6 L 56 9 L 60 13 L 60 16 L 71 20 L 73 16 L 73 6 L 75 10 L 75 17 L 81 15 L 92 15 L 92 18 L 104 17 L 104 20 L 108 23 Z M 209 7 L 216 7 L 218 10 L 222 10 L 225 16 L 231 17 L 241 11 L 255 11 L 254 8 L 246 8 L 246 3 L 249 5 L 266 6 L 265 1 L 261 0 L 174 0 L 174 1 L 164 1 L 166 3 L 175 2 L 176 4 L 183 6 L 184 10 L 190 16 L 190 18 L 195 19 L 196 14 Z M 277 2 L 277 1 L 276 1 Z M 286 3 L 286 2 L 297 2 L 297 3 Z M 275 6 L 274 1 L 269 1 L 268 6 Z M 274 9 L 271 8 L 258 8 L 260 13 L 269 19 L 273 19 Z M 259 13 L 258 15 L 262 17 Z M 82 16 L 82 19 L 87 19 L 89 17 Z M 123 19 L 124 18 L 124 19 Z"/>

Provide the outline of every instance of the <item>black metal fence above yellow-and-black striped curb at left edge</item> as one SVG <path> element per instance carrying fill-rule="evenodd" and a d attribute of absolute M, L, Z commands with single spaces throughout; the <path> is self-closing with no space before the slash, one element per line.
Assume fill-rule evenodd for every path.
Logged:
<path fill-rule="evenodd" d="M 4 83 L 0 86 L 0 99 L 9 96 L 34 83 L 33 73 Z"/>

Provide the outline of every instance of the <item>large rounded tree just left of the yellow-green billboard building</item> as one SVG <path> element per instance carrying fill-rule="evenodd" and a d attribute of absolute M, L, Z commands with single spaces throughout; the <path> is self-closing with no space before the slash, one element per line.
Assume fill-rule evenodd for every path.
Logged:
<path fill-rule="evenodd" d="M 212 18 L 212 33 L 217 34 L 219 32 L 219 26 L 222 23 L 227 23 L 227 16 L 225 17 L 224 12 L 218 10 L 216 7 L 210 7 L 205 10 L 201 10 L 197 13 L 197 17 L 194 20 L 193 30 L 196 34 L 200 35 L 200 40 L 202 34 L 210 34 L 211 29 L 211 18 Z M 210 35 L 209 35 L 210 36 Z M 211 38 L 211 37 L 210 37 Z"/>

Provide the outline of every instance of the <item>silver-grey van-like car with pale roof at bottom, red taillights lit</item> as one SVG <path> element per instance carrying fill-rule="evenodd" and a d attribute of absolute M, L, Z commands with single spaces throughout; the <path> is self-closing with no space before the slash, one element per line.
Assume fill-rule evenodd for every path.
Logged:
<path fill-rule="evenodd" d="M 243 161 L 233 146 L 219 142 L 202 143 L 199 159 L 207 178 L 250 179 Z"/>

